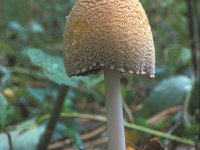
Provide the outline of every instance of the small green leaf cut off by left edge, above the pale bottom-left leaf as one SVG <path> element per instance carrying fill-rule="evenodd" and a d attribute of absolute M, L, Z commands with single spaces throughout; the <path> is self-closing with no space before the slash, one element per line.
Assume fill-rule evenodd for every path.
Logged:
<path fill-rule="evenodd" d="M 0 125 L 4 126 L 6 123 L 6 116 L 7 116 L 7 101 L 5 97 L 0 93 Z"/>

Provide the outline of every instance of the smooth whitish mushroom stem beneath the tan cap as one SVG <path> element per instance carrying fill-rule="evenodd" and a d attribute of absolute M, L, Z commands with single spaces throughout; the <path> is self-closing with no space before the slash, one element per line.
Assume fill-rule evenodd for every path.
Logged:
<path fill-rule="evenodd" d="M 104 70 L 108 150 L 126 150 L 120 77 L 119 72 Z"/>

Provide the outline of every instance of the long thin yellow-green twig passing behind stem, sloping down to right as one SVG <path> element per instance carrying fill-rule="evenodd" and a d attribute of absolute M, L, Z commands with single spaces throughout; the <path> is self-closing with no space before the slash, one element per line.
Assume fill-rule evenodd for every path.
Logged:
<path fill-rule="evenodd" d="M 106 122 L 106 117 L 103 116 L 99 116 L 99 115 L 90 115 L 90 114 L 79 114 L 79 113 L 61 113 L 61 117 L 65 117 L 65 118 L 82 118 L 82 119 L 89 119 L 89 120 L 94 120 L 94 121 L 102 121 L 102 122 Z M 41 123 L 42 121 L 46 120 L 49 118 L 49 115 L 45 115 L 42 116 L 41 118 L 38 118 L 36 120 L 36 123 Z M 129 129 L 134 129 L 134 130 L 138 130 L 147 134 L 151 134 L 154 136 L 159 136 L 162 138 L 166 138 L 172 141 L 176 141 L 182 144 L 187 144 L 187 145 L 191 145 L 191 146 L 195 146 L 195 142 L 190 140 L 190 139 L 184 139 L 178 136 L 174 136 L 171 134 L 167 134 L 164 132 L 160 132 L 154 129 L 150 129 L 150 128 L 146 128 L 146 127 L 142 127 L 136 124 L 132 124 L 132 123 L 127 123 L 125 122 L 125 127 L 129 128 Z"/>

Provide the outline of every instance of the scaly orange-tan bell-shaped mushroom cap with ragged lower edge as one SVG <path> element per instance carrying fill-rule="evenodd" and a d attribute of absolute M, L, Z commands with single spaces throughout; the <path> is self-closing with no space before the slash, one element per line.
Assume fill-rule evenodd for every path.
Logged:
<path fill-rule="evenodd" d="M 138 0 L 77 0 L 63 40 L 69 76 L 109 68 L 154 77 L 151 27 Z"/>

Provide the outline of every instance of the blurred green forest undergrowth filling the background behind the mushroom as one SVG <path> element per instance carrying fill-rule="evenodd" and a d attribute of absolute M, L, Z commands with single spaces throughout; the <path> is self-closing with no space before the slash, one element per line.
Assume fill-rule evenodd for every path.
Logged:
<path fill-rule="evenodd" d="M 141 2 L 154 35 L 156 78 L 123 76 L 125 120 L 198 143 L 199 2 L 191 7 L 187 0 Z M 69 78 L 63 67 L 62 34 L 73 4 L 74 0 L 0 1 L 0 150 L 36 149 L 47 124 L 45 115 L 52 112 L 62 85 L 68 87 L 63 116 L 49 149 L 86 148 L 105 139 L 105 129 L 83 138 L 104 122 L 66 117 L 106 113 L 102 74 Z M 126 131 L 129 149 L 142 148 L 155 137 Z M 159 140 L 166 149 L 194 147 Z"/>

